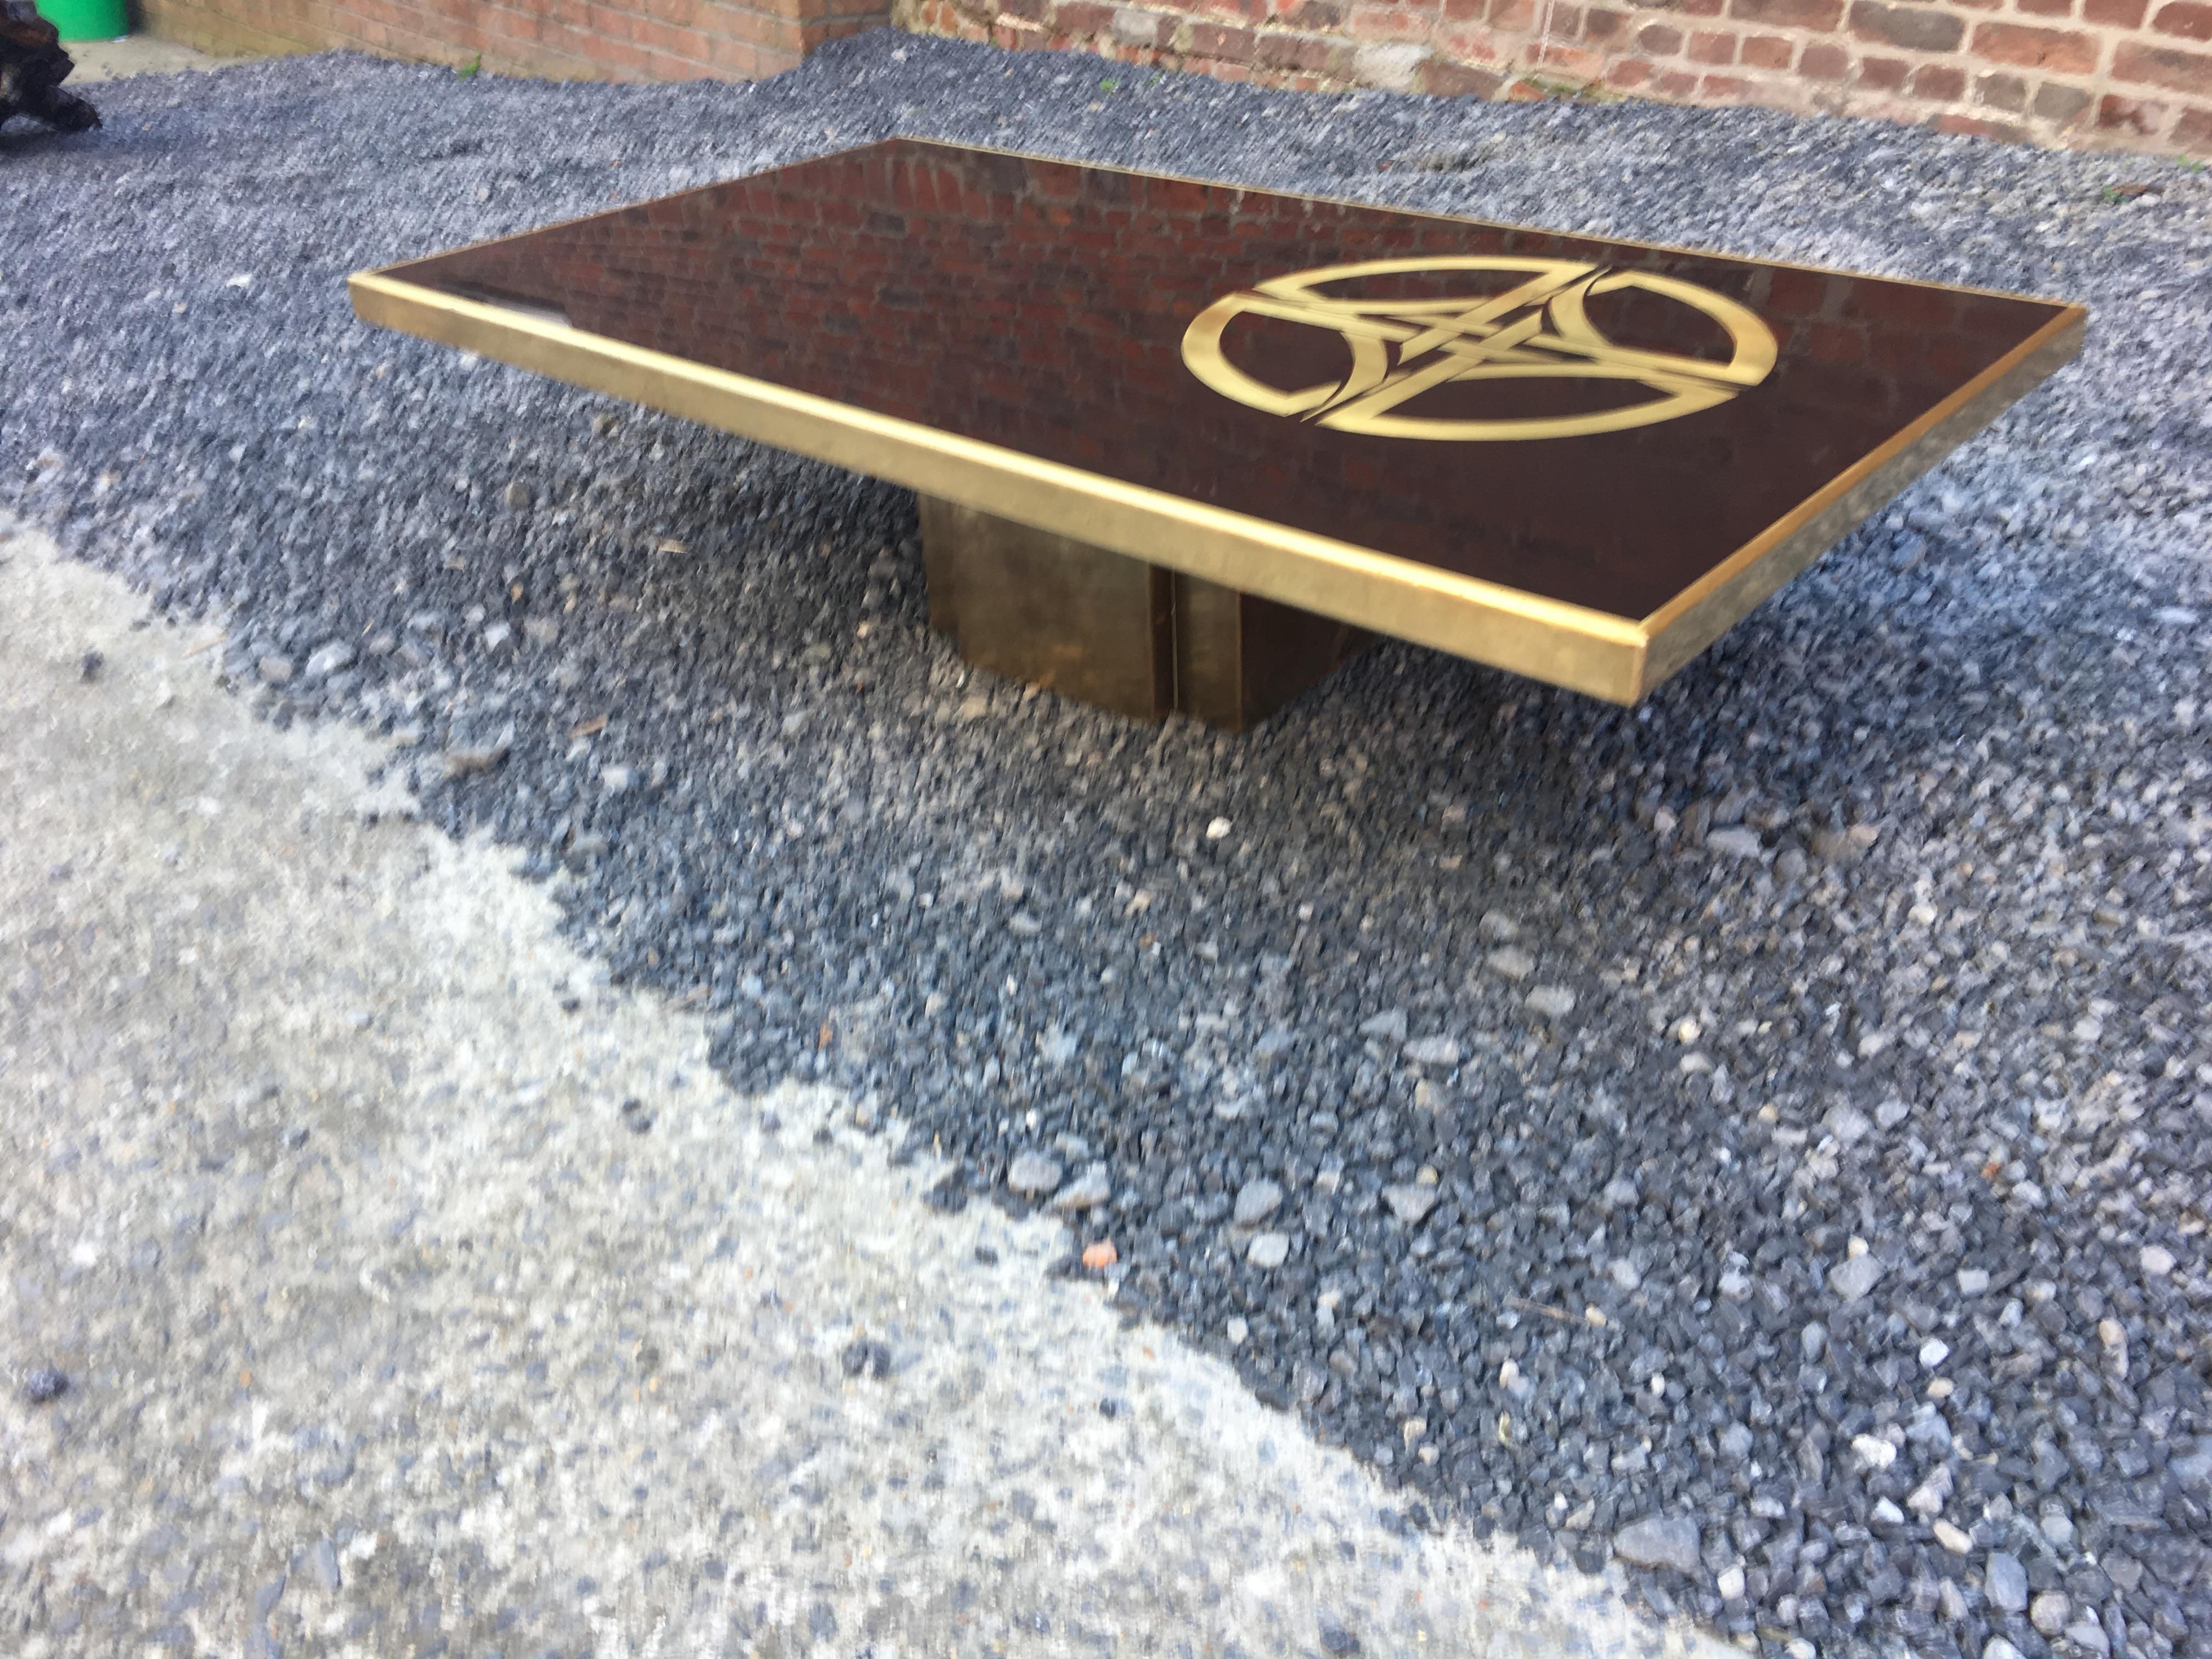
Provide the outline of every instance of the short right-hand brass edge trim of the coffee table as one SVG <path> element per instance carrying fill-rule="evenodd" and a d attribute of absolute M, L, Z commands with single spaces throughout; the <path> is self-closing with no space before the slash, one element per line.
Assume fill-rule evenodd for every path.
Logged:
<path fill-rule="evenodd" d="M 1898 429 L 1818 491 L 1774 520 L 1639 624 L 1650 644 L 1637 695 L 1657 690 L 1705 646 L 1809 568 L 1916 478 L 2004 409 L 2057 374 L 2081 349 L 2088 307 L 2066 305 L 2011 352 Z M 1871 498 L 1871 500 L 1869 500 Z"/>

